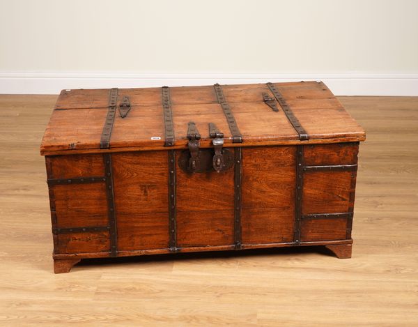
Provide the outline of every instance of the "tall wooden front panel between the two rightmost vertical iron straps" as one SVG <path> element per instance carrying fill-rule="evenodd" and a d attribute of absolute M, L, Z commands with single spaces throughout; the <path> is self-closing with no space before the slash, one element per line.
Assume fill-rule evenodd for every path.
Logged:
<path fill-rule="evenodd" d="M 295 146 L 242 149 L 242 243 L 293 241 Z"/>

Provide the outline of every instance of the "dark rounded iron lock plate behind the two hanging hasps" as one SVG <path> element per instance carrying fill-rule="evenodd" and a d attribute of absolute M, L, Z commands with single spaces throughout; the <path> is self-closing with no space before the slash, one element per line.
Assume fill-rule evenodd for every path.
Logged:
<path fill-rule="evenodd" d="M 214 149 L 199 149 L 199 165 L 196 166 L 196 169 L 192 170 L 189 167 L 189 160 L 191 158 L 190 151 L 185 150 L 180 153 L 180 158 L 178 158 L 178 167 L 180 167 L 183 172 L 187 172 L 187 174 L 215 172 L 215 169 L 213 168 L 214 155 Z M 222 156 L 224 158 L 224 168 L 222 169 L 222 172 L 224 172 L 225 170 L 233 167 L 233 152 L 229 149 L 222 149 Z"/>

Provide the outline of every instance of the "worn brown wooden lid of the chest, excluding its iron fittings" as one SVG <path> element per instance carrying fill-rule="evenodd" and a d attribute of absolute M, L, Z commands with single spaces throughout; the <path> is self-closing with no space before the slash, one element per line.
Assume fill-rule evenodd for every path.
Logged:
<path fill-rule="evenodd" d="M 311 142 L 346 137 L 353 141 L 364 139 L 364 130 L 325 84 L 291 82 L 275 85 L 290 101 L 293 112 L 311 135 Z M 249 146 L 251 142 L 268 145 L 300 142 L 283 110 L 273 112 L 263 102 L 263 93 L 273 96 L 266 84 L 225 85 L 223 88 L 244 138 L 243 146 Z M 130 97 L 132 108 L 124 119 L 116 113 L 111 147 L 119 151 L 135 147 L 164 149 L 161 89 L 119 89 L 117 105 L 120 105 L 123 96 Z M 226 144 L 232 143 L 231 132 L 212 85 L 173 87 L 170 88 L 170 96 L 175 144 L 180 149 L 187 147 L 189 121 L 196 122 L 203 144 L 210 143 L 210 122 L 216 123 L 224 132 Z M 108 101 L 109 90 L 62 91 L 42 139 L 41 153 L 81 153 L 79 151 L 99 149 Z"/>

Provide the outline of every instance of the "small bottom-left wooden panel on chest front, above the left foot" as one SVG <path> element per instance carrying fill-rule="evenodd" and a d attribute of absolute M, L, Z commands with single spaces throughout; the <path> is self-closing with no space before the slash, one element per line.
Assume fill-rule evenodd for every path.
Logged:
<path fill-rule="evenodd" d="M 72 233 L 55 236 L 55 254 L 109 251 L 109 232 Z"/>

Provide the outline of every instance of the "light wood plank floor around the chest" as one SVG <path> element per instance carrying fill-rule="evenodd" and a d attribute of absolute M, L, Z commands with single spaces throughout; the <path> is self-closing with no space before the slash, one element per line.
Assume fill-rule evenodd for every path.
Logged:
<path fill-rule="evenodd" d="M 55 99 L 0 96 L 0 326 L 418 326 L 418 98 L 340 98 L 368 133 L 352 259 L 182 254 L 61 275 L 38 151 Z"/>

